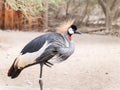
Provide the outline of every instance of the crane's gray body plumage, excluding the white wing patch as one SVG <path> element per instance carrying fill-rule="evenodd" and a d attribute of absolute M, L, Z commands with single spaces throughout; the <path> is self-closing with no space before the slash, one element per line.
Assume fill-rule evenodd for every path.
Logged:
<path fill-rule="evenodd" d="M 39 36 L 28 43 L 21 51 L 22 55 L 26 53 L 34 53 L 38 51 L 45 42 L 48 42 L 49 46 L 44 50 L 42 55 L 36 57 L 35 63 L 46 63 L 53 57 L 56 57 L 56 61 L 66 60 L 74 51 L 74 45 L 67 38 L 67 34 L 62 35 L 59 33 L 48 33 Z"/>

